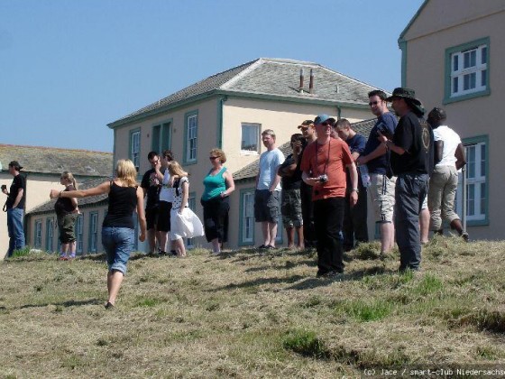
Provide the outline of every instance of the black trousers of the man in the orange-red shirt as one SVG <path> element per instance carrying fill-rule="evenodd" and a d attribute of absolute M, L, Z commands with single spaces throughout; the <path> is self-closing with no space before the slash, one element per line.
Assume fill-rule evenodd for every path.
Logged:
<path fill-rule="evenodd" d="M 344 198 L 314 201 L 314 221 L 317 236 L 317 273 L 344 272 L 342 224 Z"/>

